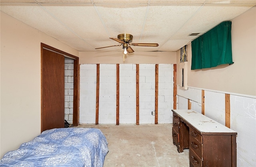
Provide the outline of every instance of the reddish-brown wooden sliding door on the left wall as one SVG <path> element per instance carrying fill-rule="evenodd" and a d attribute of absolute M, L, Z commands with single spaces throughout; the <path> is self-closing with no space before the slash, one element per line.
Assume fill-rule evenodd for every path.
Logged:
<path fill-rule="evenodd" d="M 64 128 L 64 55 L 42 49 L 41 132 Z"/>

